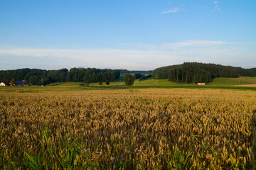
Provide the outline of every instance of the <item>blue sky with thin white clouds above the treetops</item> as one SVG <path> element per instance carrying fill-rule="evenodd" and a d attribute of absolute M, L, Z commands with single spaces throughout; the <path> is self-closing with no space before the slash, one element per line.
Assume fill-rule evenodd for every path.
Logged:
<path fill-rule="evenodd" d="M 0 0 L 0 70 L 256 67 L 255 0 Z"/>

